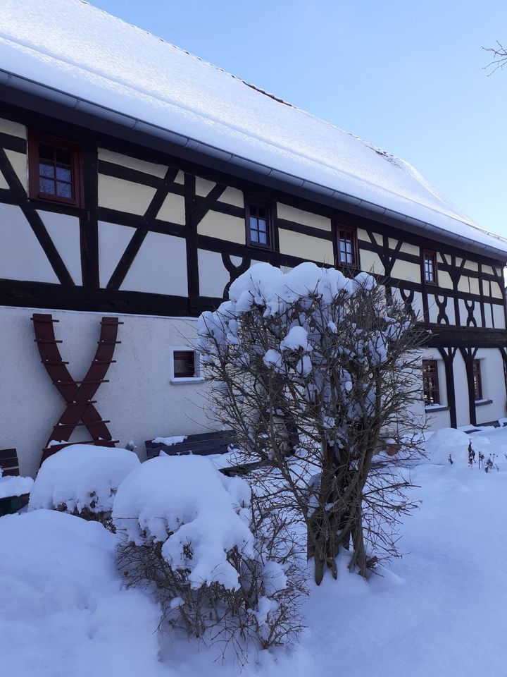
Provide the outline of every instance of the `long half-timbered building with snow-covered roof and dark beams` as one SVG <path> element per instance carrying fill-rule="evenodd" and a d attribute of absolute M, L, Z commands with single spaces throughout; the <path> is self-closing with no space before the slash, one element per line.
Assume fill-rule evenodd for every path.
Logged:
<path fill-rule="evenodd" d="M 0 25 L 0 446 L 22 472 L 206 430 L 195 318 L 255 262 L 372 272 L 431 330 L 430 425 L 506 415 L 507 243 L 410 165 L 80 0 L 7 0 Z"/>

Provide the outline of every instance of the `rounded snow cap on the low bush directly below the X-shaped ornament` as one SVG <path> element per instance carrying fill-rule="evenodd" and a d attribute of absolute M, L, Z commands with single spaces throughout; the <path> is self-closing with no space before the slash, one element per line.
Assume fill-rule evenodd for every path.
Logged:
<path fill-rule="evenodd" d="M 28 508 L 99 516 L 113 508 L 120 482 L 140 465 L 133 451 L 73 444 L 42 463 Z"/>

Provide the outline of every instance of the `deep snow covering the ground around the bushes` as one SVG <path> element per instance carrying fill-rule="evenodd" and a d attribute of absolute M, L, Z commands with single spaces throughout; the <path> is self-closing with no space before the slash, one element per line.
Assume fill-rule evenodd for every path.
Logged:
<path fill-rule="evenodd" d="M 406 555 L 369 582 L 342 560 L 337 582 L 311 589 L 299 648 L 251 657 L 245 677 L 507 674 L 507 429 L 470 439 L 499 471 L 411 468 L 422 502 L 403 525 Z M 114 546 L 100 524 L 56 511 L 0 518 L 1 674 L 237 675 L 213 650 L 157 634 L 158 607 L 123 588 Z"/>

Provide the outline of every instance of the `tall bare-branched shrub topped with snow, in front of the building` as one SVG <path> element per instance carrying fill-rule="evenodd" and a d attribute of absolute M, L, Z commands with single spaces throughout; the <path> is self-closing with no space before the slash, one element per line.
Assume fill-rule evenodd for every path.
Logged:
<path fill-rule="evenodd" d="M 215 416 L 244 463 L 273 465 L 308 531 L 320 583 L 340 549 L 362 575 L 396 555 L 396 522 L 411 508 L 382 458 L 384 431 L 418 456 L 423 414 L 417 318 L 365 273 L 302 263 L 256 264 L 230 300 L 199 317 L 199 350 Z M 308 468 L 312 468 L 308 472 Z M 368 487 L 375 475 L 375 489 Z M 368 496 L 369 509 L 363 502 Z"/>

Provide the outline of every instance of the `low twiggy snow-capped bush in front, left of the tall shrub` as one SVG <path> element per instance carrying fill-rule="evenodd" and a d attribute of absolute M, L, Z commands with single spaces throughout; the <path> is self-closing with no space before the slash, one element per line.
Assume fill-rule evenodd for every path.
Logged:
<path fill-rule="evenodd" d="M 154 590 L 164 621 L 191 636 L 282 644 L 299 625 L 290 548 L 275 552 L 252 515 L 248 484 L 207 458 L 153 458 L 115 496 L 113 521 L 125 536 L 120 571 L 130 585 Z"/>

